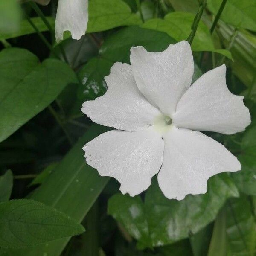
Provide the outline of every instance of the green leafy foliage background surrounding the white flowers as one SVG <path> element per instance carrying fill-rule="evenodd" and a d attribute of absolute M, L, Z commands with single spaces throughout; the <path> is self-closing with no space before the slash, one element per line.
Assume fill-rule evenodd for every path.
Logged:
<path fill-rule="evenodd" d="M 86 35 L 65 33 L 60 44 L 57 4 L 0 1 L 0 255 L 256 255 L 255 0 L 89 0 Z M 186 40 L 198 10 L 193 81 L 225 63 L 227 86 L 250 109 L 243 133 L 206 133 L 239 158 L 241 172 L 215 175 L 206 194 L 182 201 L 165 198 L 154 179 L 141 195 L 122 195 L 84 160 L 81 147 L 108 128 L 81 104 L 105 93 L 104 77 L 114 62 L 129 63 L 131 46 L 163 51 Z M 20 224 L 20 201 L 9 201 L 20 198 L 39 217 L 56 209 L 53 222 Z"/>

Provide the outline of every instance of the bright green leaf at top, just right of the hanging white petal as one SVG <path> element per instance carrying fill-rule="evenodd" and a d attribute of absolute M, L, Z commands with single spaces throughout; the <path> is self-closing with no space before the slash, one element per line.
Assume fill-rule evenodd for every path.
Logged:
<path fill-rule="evenodd" d="M 131 13 L 130 7 L 122 0 L 91 0 L 88 12 L 88 33 L 142 23 L 140 18 Z"/>

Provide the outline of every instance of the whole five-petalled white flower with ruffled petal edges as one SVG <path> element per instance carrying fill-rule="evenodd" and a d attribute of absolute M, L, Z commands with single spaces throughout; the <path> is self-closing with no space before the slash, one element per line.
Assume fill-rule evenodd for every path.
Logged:
<path fill-rule="evenodd" d="M 87 163 L 131 196 L 147 189 L 160 170 L 160 189 L 178 200 L 205 193 L 217 173 L 240 170 L 233 154 L 198 132 L 233 134 L 250 124 L 243 97 L 227 88 L 225 65 L 190 86 L 194 63 L 186 41 L 163 52 L 132 47 L 130 58 L 131 66 L 113 65 L 104 96 L 83 104 L 94 122 L 118 129 L 84 146 Z"/>

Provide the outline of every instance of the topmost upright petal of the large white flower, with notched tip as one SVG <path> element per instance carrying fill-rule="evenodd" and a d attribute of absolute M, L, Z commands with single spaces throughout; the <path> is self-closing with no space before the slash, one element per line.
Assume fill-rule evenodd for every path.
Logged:
<path fill-rule="evenodd" d="M 132 47 L 130 58 L 139 90 L 165 115 L 172 115 L 192 82 L 194 63 L 189 43 L 171 44 L 163 52 Z"/>

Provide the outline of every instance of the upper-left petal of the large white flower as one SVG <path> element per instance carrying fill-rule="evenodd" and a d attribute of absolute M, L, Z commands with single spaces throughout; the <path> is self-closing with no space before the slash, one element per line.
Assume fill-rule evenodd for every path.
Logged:
<path fill-rule="evenodd" d="M 130 65 L 116 62 L 105 81 L 107 92 L 96 100 L 84 102 L 81 109 L 93 122 L 136 131 L 147 128 L 161 115 L 138 90 Z"/>

